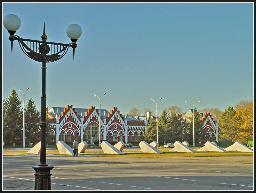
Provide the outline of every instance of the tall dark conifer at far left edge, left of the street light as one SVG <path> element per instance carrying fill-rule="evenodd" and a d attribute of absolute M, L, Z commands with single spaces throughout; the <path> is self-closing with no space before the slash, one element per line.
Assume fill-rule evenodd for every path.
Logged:
<path fill-rule="evenodd" d="M 15 89 L 3 100 L 3 140 L 5 144 L 23 141 L 23 109 Z"/>

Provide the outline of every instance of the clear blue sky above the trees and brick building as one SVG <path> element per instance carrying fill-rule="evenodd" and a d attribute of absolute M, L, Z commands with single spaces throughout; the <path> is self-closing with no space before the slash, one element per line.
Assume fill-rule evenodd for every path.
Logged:
<path fill-rule="evenodd" d="M 253 96 L 253 3 L 3 3 L 3 18 L 20 17 L 16 35 L 70 43 L 68 25 L 83 33 L 59 61 L 46 63 L 47 107 L 135 107 L 158 114 L 234 107 Z M 28 58 L 3 26 L 3 99 L 15 89 L 41 109 L 42 64 Z"/>

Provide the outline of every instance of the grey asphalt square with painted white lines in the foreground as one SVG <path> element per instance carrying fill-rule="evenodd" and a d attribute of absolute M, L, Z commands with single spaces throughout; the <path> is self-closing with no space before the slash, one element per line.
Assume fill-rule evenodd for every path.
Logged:
<path fill-rule="evenodd" d="M 3 190 L 34 190 L 40 155 L 3 155 Z M 47 155 L 52 190 L 253 190 L 253 157 Z"/>

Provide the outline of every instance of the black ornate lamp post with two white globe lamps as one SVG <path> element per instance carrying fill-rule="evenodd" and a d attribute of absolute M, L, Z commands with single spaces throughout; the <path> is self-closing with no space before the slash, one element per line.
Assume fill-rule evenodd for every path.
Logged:
<path fill-rule="evenodd" d="M 66 33 L 71 40 L 69 44 L 47 42 L 47 36 L 44 32 L 41 36 L 42 41 L 23 39 L 15 32 L 20 28 L 20 18 L 17 15 L 9 14 L 4 17 L 3 25 L 10 33 L 9 40 L 11 48 L 13 41 L 17 40 L 21 50 L 31 59 L 42 62 L 42 97 L 41 97 L 41 150 L 40 164 L 34 166 L 35 175 L 35 190 L 51 190 L 51 173 L 53 166 L 46 164 L 46 94 L 45 94 L 45 72 L 46 63 L 54 62 L 62 58 L 68 51 L 68 48 L 73 48 L 73 60 L 75 59 L 76 41 L 82 35 L 82 29 L 77 24 L 71 24 L 67 27 Z"/>

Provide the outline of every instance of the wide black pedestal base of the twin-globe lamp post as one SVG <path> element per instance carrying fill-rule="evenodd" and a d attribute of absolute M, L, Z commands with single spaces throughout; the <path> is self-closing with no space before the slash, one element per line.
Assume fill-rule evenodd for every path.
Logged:
<path fill-rule="evenodd" d="M 51 190 L 51 173 L 53 166 L 34 166 L 36 171 L 35 190 Z"/>

